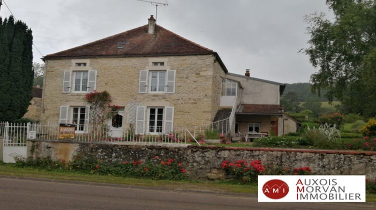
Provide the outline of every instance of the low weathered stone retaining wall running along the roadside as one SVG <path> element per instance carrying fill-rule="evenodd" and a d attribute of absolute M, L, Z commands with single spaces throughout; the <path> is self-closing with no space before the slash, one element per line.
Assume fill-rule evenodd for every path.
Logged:
<path fill-rule="evenodd" d="M 221 178 L 221 163 L 260 159 L 265 166 L 310 166 L 315 174 L 365 174 L 376 177 L 376 152 L 351 150 L 311 150 L 282 148 L 239 148 L 216 146 L 173 147 L 160 145 L 120 145 L 32 141 L 28 143 L 34 157 L 51 156 L 71 160 L 74 155 L 95 155 L 98 159 L 113 161 L 146 160 L 154 156 L 178 159 L 192 178 Z M 29 151 L 29 154 L 31 152 Z"/>

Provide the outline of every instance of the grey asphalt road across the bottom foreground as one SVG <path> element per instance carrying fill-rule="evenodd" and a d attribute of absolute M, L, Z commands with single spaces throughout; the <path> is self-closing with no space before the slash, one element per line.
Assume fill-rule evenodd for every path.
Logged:
<path fill-rule="evenodd" d="M 255 195 L 0 177 L 0 209 L 363 210 L 376 209 L 376 206 L 372 203 L 258 203 Z"/>

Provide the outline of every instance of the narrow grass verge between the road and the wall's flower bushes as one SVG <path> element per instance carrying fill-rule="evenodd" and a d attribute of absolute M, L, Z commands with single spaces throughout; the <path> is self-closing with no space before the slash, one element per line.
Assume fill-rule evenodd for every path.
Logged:
<path fill-rule="evenodd" d="M 119 177 L 112 175 L 96 175 L 73 171 L 53 171 L 31 167 L 16 167 L 13 164 L 0 165 L 0 175 L 22 176 L 36 178 L 52 178 L 62 180 L 90 181 L 114 184 L 129 184 L 139 186 L 162 187 L 166 189 L 212 190 L 217 192 L 257 193 L 257 184 L 236 184 L 230 181 L 200 181 L 200 180 L 152 180 L 144 178 Z"/>

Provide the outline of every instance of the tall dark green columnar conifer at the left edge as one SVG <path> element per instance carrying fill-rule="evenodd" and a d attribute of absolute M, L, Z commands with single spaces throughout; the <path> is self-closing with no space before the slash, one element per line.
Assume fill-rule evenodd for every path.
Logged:
<path fill-rule="evenodd" d="M 33 35 L 13 16 L 0 23 L 0 120 L 15 120 L 27 112 L 32 99 Z"/>

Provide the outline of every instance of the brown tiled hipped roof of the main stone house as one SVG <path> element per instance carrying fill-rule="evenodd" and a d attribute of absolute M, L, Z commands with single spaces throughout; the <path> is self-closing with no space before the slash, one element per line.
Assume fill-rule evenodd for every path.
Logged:
<path fill-rule="evenodd" d="M 155 25 L 155 33 L 147 33 L 143 25 L 97 41 L 64 51 L 48 54 L 45 58 L 80 56 L 150 56 L 216 54 L 172 31 Z"/>

